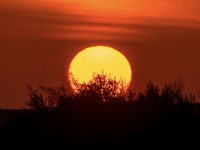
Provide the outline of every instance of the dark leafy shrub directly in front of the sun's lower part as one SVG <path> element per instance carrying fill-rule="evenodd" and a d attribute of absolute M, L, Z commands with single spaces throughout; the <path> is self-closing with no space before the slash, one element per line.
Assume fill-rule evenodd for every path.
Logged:
<path fill-rule="evenodd" d="M 116 77 L 106 75 L 103 71 L 102 74 L 94 73 L 92 79 L 88 83 L 78 83 L 73 77 L 71 79 L 74 86 L 76 97 L 82 96 L 97 96 L 102 101 L 112 101 L 116 99 L 124 99 L 126 88 L 125 81 L 117 81 Z"/>

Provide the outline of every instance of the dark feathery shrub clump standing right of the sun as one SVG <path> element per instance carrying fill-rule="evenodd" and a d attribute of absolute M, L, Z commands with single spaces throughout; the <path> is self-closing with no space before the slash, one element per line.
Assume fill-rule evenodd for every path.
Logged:
<path fill-rule="evenodd" d="M 194 94 L 184 94 L 184 84 L 182 79 L 175 79 L 172 83 L 164 83 L 162 88 L 152 83 L 151 80 L 137 94 L 138 101 L 149 103 L 162 103 L 165 105 L 194 104 Z"/>

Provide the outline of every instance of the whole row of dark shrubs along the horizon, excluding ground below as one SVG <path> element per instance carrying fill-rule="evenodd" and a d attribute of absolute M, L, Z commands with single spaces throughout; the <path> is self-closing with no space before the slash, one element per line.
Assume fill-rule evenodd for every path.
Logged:
<path fill-rule="evenodd" d="M 125 82 L 116 78 L 111 78 L 103 71 L 102 74 L 93 74 L 88 83 L 78 83 L 71 76 L 73 88 L 68 84 L 60 87 L 39 86 L 39 90 L 29 90 L 30 100 L 25 104 L 30 109 L 45 110 L 59 106 L 61 103 L 71 101 L 90 101 L 90 102 L 109 102 L 109 101 L 140 101 L 149 104 L 162 103 L 163 105 L 181 105 L 195 103 L 194 94 L 184 94 L 184 84 L 182 79 L 175 79 L 172 83 L 164 83 L 162 88 L 155 85 L 151 80 L 144 89 L 136 91 L 135 89 L 125 87 Z"/>

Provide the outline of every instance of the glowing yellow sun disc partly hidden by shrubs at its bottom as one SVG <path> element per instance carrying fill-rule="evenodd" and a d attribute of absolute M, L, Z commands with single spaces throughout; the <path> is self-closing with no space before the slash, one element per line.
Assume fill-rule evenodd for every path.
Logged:
<path fill-rule="evenodd" d="M 119 51 L 107 46 L 93 46 L 79 52 L 70 63 L 69 72 L 78 83 L 88 83 L 94 73 L 104 71 L 117 81 L 124 81 L 128 87 L 132 70 L 126 57 Z M 70 79 L 69 79 L 70 80 Z M 74 85 L 71 82 L 72 88 Z"/>

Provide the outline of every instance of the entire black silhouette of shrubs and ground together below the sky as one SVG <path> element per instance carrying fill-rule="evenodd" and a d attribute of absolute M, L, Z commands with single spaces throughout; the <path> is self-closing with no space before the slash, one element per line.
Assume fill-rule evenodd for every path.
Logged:
<path fill-rule="evenodd" d="M 193 149 L 200 118 L 183 81 L 144 89 L 94 74 L 89 83 L 28 86 L 26 109 L 1 128 L 2 145 L 19 149 Z M 119 88 L 117 87 L 121 87 Z"/>

